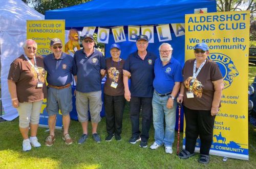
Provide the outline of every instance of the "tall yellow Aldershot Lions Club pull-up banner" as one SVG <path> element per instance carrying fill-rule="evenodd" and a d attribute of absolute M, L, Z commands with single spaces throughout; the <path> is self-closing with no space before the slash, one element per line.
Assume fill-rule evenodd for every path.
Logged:
<path fill-rule="evenodd" d="M 220 112 L 215 118 L 210 154 L 248 160 L 248 50 L 250 11 L 185 16 L 185 60 L 196 43 L 209 45 L 208 59 L 224 77 Z M 192 71 L 192 70 L 191 70 Z M 183 148 L 185 146 L 185 133 Z M 199 151 L 200 139 L 196 151 Z"/>

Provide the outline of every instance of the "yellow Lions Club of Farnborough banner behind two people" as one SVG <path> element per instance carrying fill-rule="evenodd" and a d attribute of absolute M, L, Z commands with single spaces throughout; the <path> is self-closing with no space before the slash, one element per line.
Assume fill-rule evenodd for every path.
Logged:
<path fill-rule="evenodd" d="M 33 39 L 37 43 L 37 55 L 46 56 L 51 54 L 50 40 L 59 38 L 65 47 L 65 20 L 27 20 L 27 39 Z M 65 51 L 65 49 L 62 49 Z M 46 111 L 47 100 L 42 102 L 39 126 L 48 127 L 48 113 Z M 62 116 L 56 117 L 56 128 L 62 128 Z"/>

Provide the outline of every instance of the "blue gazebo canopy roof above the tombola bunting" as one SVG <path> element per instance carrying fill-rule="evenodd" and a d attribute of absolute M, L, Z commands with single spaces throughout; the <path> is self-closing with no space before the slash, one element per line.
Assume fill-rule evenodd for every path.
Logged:
<path fill-rule="evenodd" d="M 65 19 L 66 28 L 113 27 L 184 23 L 185 14 L 207 8 L 216 12 L 215 0 L 92 0 L 91 2 L 46 11 L 45 19 Z"/>

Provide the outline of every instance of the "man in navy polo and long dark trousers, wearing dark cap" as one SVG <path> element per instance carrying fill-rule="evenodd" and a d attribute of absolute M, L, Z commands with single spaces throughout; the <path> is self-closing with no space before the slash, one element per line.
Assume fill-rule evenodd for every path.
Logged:
<path fill-rule="evenodd" d="M 124 97 L 130 102 L 130 117 L 132 122 L 132 137 L 130 143 L 141 140 L 140 147 L 147 147 L 150 137 L 148 132 L 152 121 L 152 97 L 154 80 L 154 63 L 156 56 L 148 52 L 146 35 L 137 37 L 138 51 L 132 53 L 125 61 L 123 71 Z M 126 70 L 126 71 L 125 71 Z M 128 71 L 128 73 L 127 73 Z M 131 73 L 131 90 L 128 86 L 128 76 Z M 142 131 L 139 130 L 139 115 L 142 108 Z"/>

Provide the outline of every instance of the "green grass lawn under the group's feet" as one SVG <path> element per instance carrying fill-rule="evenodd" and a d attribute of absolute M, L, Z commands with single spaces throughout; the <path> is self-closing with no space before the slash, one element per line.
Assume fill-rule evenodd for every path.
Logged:
<path fill-rule="evenodd" d="M 249 84 L 256 75 L 256 66 L 249 66 Z M 157 150 L 139 148 L 139 143 L 130 144 L 131 122 L 127 108 L 123 117 L 122 141 L 104 141 L 106 136 L 105 118 L 98 126 L 101 143 L 90 138 L 84 144 L 77 144 L 82 129 L 78 122 L 72 120 L 70 135 L 74 143 L 67 146 L 61 139 L 62 133 L 56 130 L 56 141 L 52 147 L 46 147 L 44 140 L 48 136 L 45 128 L 38 129 L 41 148 L 32 148 L 30 152 L 22 151 L 22 136 L 18 130 L 18 119 L 0 123 L 0 168 L 256 168 L 256 131 L 249 124 L 249 161 L 210 156 L 208 165 L 199 164 L 197 154 L 187 160 L 179 159 L 176 153 L 177 139 L 173 145 L 174 153 L 166 154 L 164 147 Z M 91 124 L 89 123 L 89 131 Z M 176 133 L 177 134 L 177 133 Z M 154 142 L 153 125 L 148 144 Z M 182 133 L 180 138 L 182 138 Z M 182 140 L 182 139 L 181 139 Z M 180 145 L 182 142 L 180 143 Z"/>

